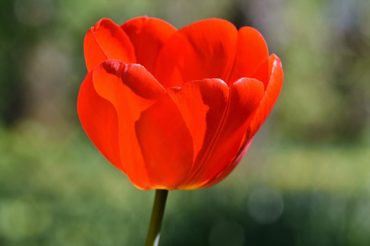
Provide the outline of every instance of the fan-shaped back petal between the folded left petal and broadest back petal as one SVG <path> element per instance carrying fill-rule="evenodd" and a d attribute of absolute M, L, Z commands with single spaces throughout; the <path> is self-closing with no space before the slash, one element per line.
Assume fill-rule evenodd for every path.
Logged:
<path fill-rule="evenodd" d="M 154 74 L 155 62 L 164 42 L 177 30 L 171 24 L 148 17 L 137 17 L 121 25 L 135 48 L 137 63 Z"/>

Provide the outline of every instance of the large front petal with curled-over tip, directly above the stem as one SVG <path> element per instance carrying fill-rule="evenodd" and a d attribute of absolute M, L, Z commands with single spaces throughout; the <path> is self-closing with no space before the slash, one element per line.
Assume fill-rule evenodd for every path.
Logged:
<path fill-rule="evenodd" d="M 121 160 L 131 182 L 141 189 L 175 188 L 191 167 L 192 139 L 164 88 L 143 66 L 117 60 L 94 68 L 92 80 L 117 112 Z"/>

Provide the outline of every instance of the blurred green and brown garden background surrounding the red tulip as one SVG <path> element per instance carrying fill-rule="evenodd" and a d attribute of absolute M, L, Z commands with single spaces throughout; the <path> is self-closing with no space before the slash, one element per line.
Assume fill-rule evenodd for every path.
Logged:
<path fill-rule="evenodd" d="M 367 0 L 1 0 L 0 245 L 144 245 L 141 191 L 80 126 L 83 39 L 100 18 L 250 25 L 284 84 L 236 170 L 169 192 L 160 245 L 370 245 Z"/>

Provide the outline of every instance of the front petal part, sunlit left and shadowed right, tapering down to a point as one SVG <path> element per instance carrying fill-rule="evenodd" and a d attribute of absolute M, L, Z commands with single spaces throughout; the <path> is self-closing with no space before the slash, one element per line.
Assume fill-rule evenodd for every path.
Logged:
<path fill-rule="evenodd" d="M 229 88 L 221 79 L 203 79 L 167 89 L 185 120 L 194 143 L 198 165 L 219 128 L 228 102 Z"/>

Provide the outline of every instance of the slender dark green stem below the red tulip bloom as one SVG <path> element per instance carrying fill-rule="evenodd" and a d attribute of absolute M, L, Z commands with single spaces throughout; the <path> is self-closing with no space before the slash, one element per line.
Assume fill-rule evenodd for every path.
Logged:
<path fill-rule="evenodd" d="M 150 218 L 147 241 L 145 242 L 145 246 L 158 246 L 167 195 L 168 190 L 166 189 L 155 190 L 152 217 Z"/>

